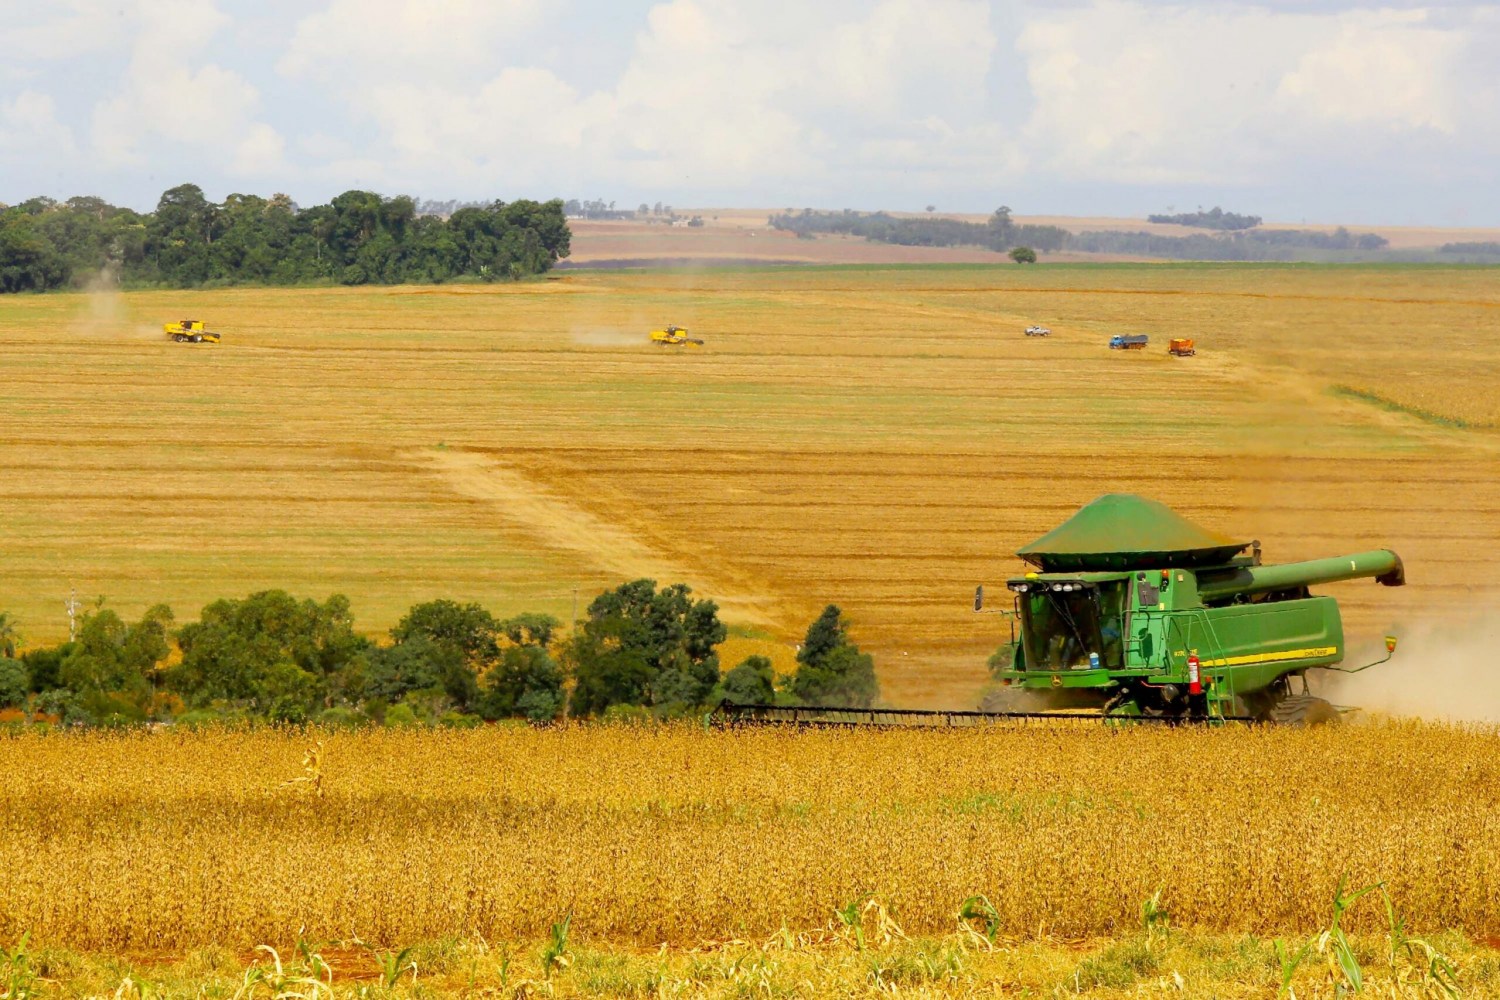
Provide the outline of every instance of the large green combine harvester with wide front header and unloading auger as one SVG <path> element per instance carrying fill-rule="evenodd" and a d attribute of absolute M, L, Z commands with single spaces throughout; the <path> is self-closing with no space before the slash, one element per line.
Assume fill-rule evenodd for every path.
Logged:
<path fill-rule="evenodd" d="M 1248 555 L 1246 555 L 1248 552 Z M 1206 531 L 1164 504 L 1101 496 L 1017 553 L 1034 571 L 1006 582 L 1010 666 L 994 711 L 722 706 L 735 720 L 964 724 L 1084 715 L 1120 721 L 1314 726 L 1340 709 L 1308 691 L 1308 670 L 1344 670 L 1338 601 L 1308 588 L 1374 577 L 1406 583 L 1390 550 L 1264 565 L 1260 543 Z M 974 609 L 984 609 L 984 588 Z M 1386 637 L 1386 663 L 1395 639 Z M 1002 652 L 1004 655 L 1004 652 Z"/>

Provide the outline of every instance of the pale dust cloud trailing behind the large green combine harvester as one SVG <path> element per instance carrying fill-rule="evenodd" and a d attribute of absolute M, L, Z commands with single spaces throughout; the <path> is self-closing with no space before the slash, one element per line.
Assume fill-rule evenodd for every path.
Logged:
<path fill-rule="evenodd" d="M 1500 723 L 1500 615 L 1400 630 L 1390 663 L 1364 673 L 1323 673 L 1314 691 L 1365 712 L 1455 723 Z M 1347 666 L 1384 655 L 1353 648 Z"/>

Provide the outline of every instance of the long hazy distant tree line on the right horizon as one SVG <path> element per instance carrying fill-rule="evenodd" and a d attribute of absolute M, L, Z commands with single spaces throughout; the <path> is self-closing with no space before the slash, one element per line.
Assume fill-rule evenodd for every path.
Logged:
<path fill-rule="evenodd" d="M 1221 219 L 1256 219 L 1220 211 Z M 1212 213 L 1203 213 L 1212 216 Z M 1188 217 L 1188 216 L 1182 216 Z M 1154 220 L 1158 220 L 1154 217 Z M 1010 253 L 1017 262 L 1030 262 L 1034 250 L 1076 250 L 1080 253 L 1120 253 L 1182 261 L 1292 261 L 1308 255 L 1368 255 L 1389 246 L 1374 232 L 1354 234 L 1340 226 L 1334 232 L 1314 229 L 1236 229 L 1222 234 L 1156 235 L 1152 232 L 1068 232 L 1060 226 L 1017 225 L 1011 210 L 996 208 L 986 222 L 958 219 L 897 219 L 884 211 L 801 211 L 771 216 L 776 229 L 813 238 L 818 234 L 860 235 L 876 243 L 902 246 L 972 246 Z M 1186 225 L 1186 223 L 1184 223 Z M 1228 226 L 1222 226 L 1228 229 Z M 1017 255 L 1017 252 L 1022 252 Z"/>

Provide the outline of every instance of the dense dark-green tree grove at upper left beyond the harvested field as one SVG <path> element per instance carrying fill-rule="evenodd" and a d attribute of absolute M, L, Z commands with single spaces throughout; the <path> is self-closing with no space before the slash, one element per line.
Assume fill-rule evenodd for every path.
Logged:
<path fill-rule="evenodd" d="M 406 195 L 346 190 L 302 208 L 286 195 L 208 201 L 196 184 L 138 213 L 102 198 L 0 208 L 0 291 L 123 285 L 396 285 L 540 274 L 570 252 L 561 201 L 494 201 L 423 214 Z"/>

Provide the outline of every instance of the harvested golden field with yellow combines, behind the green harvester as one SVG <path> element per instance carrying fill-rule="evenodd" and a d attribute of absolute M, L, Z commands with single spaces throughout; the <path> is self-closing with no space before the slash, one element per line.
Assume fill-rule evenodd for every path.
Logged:
<path fill-rule="evenodd" d="M 166 342 L 184 315 L 225 342 Z M 1272 561 L 1396 549 L 1410 586 L 1329 588 L 1358 652 L 1492 606 L 1497 316 L 1491 268 L 1424 267 L 6 297 L 0 609 L 48 642 L 70 586 L 178 619 L 279 586 L 378 633 L 432 597 L 568 619 L 652 576 L 720 601 L 728 663 L 788 667 L 834 601 L 890 702 L 964 708 L 1000 639 L 974 586 L 1128 490 Z M 645 343 L 666 322 L 706 346 Z"/>

